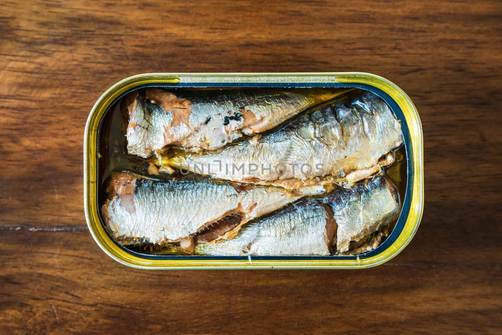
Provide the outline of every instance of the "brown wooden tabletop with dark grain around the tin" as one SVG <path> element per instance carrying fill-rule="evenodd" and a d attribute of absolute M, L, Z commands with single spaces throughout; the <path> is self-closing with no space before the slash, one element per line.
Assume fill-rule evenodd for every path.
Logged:
<path fill-rule="evenodd" d="M 7 1 L 0 32 L 1 333 L 499 333 L 500 2 Z M 99 249 L 82 147 L 104 90 L 146 72 L 311 71 L 382 75 L 420 113 L 425 210 L 399 256 L 142 271 Z"/>

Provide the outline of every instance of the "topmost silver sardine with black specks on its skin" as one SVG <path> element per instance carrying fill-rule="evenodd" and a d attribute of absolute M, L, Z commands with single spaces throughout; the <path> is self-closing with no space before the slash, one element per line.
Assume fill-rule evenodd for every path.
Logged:
<path fill-rule="evenodd" d="M 128 106 L 127 150 L 144 158 L 168 145 L 198 152 L 272 129 L 347 89 L 166 90 L 148 88 Z"/>

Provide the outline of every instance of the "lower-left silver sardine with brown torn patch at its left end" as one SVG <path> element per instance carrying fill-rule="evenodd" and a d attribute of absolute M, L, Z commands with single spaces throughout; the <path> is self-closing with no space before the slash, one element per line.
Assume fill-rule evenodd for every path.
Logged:
<path fill-rule="evenodd" d="M 122 244 L 181 241 L 234 213 L 243 222 L 301 198 L 275 187 L 239 189 L 210 179 L 158 181 L 131 173 L 114 176 L 110 200 L 101 213 L 112 237 Z"/>

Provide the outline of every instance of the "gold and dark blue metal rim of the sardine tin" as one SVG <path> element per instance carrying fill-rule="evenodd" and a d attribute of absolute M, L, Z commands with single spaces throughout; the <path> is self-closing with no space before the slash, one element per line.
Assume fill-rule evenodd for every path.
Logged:
<path fill-rule="evenodd" d="M 105 113 L 121 97 L 143 87 L 340 87 L 360 88 L 380 96 L 401 121 L 407 163 L 402 210 L 390 236 L 357 256 L 160 256 L 119 245 L 106 231 L 100 214 L 99 129 Z M 94 104 L 84 134 L 84 207 L 96 243 L 116 261 L 142 269 L 353 269 L 382 264 L 411 241 L 423 212 L 422 126 L 410 98 L 392 82 L 369 73 L 150 73 L 111 86 Z"/>

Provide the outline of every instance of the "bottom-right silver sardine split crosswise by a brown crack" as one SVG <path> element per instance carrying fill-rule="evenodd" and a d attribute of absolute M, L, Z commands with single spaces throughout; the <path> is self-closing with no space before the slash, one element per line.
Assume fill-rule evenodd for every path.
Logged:
<path fill-rule="evenodd" d="M 328 256 L 348 250 L 394 220 L 399 211 L 393 186 L 382 177 L 308 198 L 241 227 L 230 239 L 195 245 L 195 254 L 217 256 Z"/>

